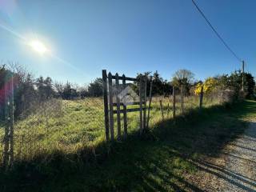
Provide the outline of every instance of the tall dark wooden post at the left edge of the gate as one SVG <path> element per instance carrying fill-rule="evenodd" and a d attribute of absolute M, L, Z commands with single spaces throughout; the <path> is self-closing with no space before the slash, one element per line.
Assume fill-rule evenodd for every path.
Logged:
<path fill-rule="evenodd" d="M 105 115 L 105 134 L 106 141 L 110 140 L 110 121 L 109 121 L 109 107 L 107 98 L 107 74 L 106 70 L 102 70 L 102 80 L 103 80 L 103 99 L 104 99 L 104 115 Z"/>

